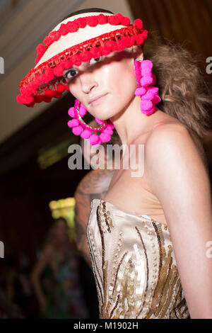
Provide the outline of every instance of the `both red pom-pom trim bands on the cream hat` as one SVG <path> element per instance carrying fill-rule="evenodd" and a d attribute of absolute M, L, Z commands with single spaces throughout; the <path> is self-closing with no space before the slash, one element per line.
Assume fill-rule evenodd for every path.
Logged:
<path fill-rule="evenodd" d="M 95 16 L 98 24 L 100 24 L 99 21 L 103 21 L 103 17 L 105 21 L 106 17 L 104 15 Z M 129 20 L 119 13 L 116 18 L 114 16 L 110 17 L 110 23 L 117 23 L 119 20 L 119 23 L 122 21 L 123 25 L 129 24 Z M 74 30 L 85 23 L 93 25 L 95 19 L 91 18 L 90 21 L 86 22 L 86 20 L 81 18 L 81 21 L 77 19 L 73 22 L 68 22 L 64 26 Z M 117 30 L 110 33 L 105 33 L 69 47 L 36 68 L 31 69 L 19 84 L 20 95 L 17 96 L 18 103 L 33 108 L 35 103 L 40 103 L 41 101 L 49 103 L 53 97 L 60 98 L 65 90 L 69 91 L 66 80 L 61 76 L 64 69 L 69 69 L 73 64 L 80 66 L 82 62 L 88 62 L 92 57 L 97 58 L 100 55 L 109 55 L 110 52 L 115 50 L 122 51 L 125 47 L 131 47 L 132 45 L 142 45 L 146 40 L 148 31 L 139 28 L 141 27 L 141 21 L 136 21 L 136 25 L 130 25 L 121 29 L 117 27 Z M 64 26 L 61 26 L 61 29 L 65 31 Z M 47 37 L 47 43 L 53 43 L 54 38 L 58 39 L 59 36 L 61 36 L 59 30 L 52 31 Z M 43 52 L 45 53 L 47 48 L 47 46 L 42 44 L 37 45 L 37 56 L 42 57 Z"/>

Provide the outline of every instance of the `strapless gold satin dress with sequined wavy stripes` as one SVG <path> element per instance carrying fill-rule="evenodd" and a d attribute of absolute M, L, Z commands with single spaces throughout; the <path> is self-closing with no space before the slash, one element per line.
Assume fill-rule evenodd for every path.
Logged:
<path fill-rule="evenodd" d="M 93 199 L 86 228 L 101 319 L 187 319 L 168 227 Z"/>

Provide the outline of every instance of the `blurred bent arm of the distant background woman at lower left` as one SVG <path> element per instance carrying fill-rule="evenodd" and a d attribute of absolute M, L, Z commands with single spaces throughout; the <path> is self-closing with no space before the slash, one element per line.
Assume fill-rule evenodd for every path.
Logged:
<path fill-rule="evenodd" d="M 30 273 L 32 285 L 33 288 L 35 289 L 35 294 L 37 296 L 37 300 L 40 304 L 41 310 L 45 310 L 45 294 L 43 293 L 40 284 L 40 276 L 44 271 L 45 267 L 47 266 L 51 255 L 52 255 L 52 246 L 48 244 L 43 250 L 41 258 L 37 261 L 33 270 Z"/>

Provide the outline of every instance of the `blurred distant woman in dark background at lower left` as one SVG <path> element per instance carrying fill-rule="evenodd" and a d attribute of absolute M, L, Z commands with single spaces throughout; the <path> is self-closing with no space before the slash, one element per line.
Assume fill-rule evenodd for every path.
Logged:
<path fill-rule="evenodd" d="M 82 319 L 88 316 L 79 282 L 79 257 L 75 244 L 69 241 L 68 232 L 64 218 L 54 221 L 42 256 L 31 273 L 43 318 Z"/>

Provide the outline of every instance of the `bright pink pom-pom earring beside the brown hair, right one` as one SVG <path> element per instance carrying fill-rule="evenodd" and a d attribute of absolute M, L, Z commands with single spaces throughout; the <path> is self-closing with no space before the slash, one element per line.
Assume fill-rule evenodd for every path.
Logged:
<path fill-rule="evenodd" d="M 155 74 L 152 74 L 153 63 L 151 60 L 134 60 L 137 81 L 136 96 L 141 96 L 141 112 L 145 115 L 151 115 L 155 112 L 155 104 L 161 101 L 158 96 L 158 87 L 153 86 L 156 83 Z"/>

